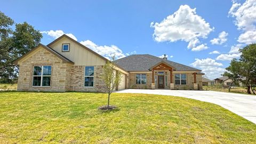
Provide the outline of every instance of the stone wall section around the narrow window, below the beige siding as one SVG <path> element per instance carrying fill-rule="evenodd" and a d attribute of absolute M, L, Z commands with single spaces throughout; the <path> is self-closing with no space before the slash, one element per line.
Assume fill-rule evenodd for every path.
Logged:
<path fill-rule="evenodd" d="M 94 86 L 84 87 L 85 66 L 72 66 L 69 91 L 106 92 L 105 84 L 100 78 L 103 73 L 103 66 L 94 66 Z"/>

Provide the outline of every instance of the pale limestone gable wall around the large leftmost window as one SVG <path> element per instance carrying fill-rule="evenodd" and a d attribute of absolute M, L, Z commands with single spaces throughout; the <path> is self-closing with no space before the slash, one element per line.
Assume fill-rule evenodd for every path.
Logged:
<path fill-rule="evenodd" d="M 33 67 L 34 66 L 52 66 L 51 86 L 38 87 L 32 86 Z M 66 91 L 69 78 L 69 69 L 71 65 L 62 63 L 62 60 L 57 58 L 45 49 L 41 49 L 33 56 L 23 61 L 19 67 L 18 91 Z"/>

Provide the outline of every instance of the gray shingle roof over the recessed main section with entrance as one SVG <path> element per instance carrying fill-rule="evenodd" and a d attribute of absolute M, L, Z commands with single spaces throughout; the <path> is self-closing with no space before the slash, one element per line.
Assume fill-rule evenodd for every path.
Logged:
<path fill-rule="evenodd" d="M 199 69 L 182 65 L 177 62 L 165 60 L 150 54 L 133 54 L 128 57 L 115 60 L 114 62 L 127 71 L 149 71 L 149 68 L 164 61 L 173 66 L 176 71 L 201 71 Z"/>

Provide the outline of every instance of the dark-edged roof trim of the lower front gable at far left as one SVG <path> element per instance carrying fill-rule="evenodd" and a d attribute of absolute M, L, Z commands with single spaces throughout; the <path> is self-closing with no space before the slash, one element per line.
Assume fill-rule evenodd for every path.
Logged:
<path fill-rule="evenodd" d="M 36 47 L 34 47 L 32 50 L 30 50 L 29 52 L 27 52 L 26 54 L 22 55 L 20 58 L 18 58 L 17 60 L 13 61 L 14 64 L 18 64 L 18 62 L 26 57 L 28 57 L 31 53 L 33 53 L 34 51 L 36 51 L 37 49 L 43 48 L 47 51 L 49 51 L 51 54 L 55 55 L 56 57 L 58 57 L 59 59 L 62 60 L 63 63 L 71 63 L 74 64 L 73 61 L 69 60 L 68 58 L 64 57 L 63 55 L 61 55 L 60 53 L 54 51 L 53 49 L 51 49 L 48 46 L 45 46 L 43 44 L 39 44 Z"/>

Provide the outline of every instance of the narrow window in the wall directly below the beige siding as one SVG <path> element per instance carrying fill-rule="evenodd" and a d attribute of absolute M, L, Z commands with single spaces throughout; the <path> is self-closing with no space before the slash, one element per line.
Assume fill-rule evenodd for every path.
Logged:
<path fill-rule="evenodd" d="M 84 71 L 84 86 L 93 87 L 93 78 L 94 78 L 94 67 L 85 67 Z"/>

